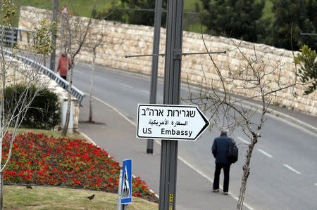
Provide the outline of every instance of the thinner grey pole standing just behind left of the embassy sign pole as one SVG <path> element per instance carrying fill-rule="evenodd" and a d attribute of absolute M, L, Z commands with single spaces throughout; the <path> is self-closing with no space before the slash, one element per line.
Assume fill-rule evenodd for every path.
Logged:
<path fill-rule="evenodd" d="M 154 39 L 153 39 L 153 54 L 159 54 L 160 34 L 162 22 L 162 0 L 155 1 L 155 17 L 154 17 Z M 152 57 L 152 72 L 151 72 L 151 92 L 149 103 L 156 103 L 156 87 L 157 87 L 157 72 L 159 68 L 159 56 Z M 153 154 L 153 139 L 147 140 L 147 153 Z"/>

